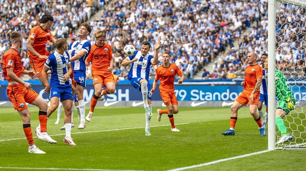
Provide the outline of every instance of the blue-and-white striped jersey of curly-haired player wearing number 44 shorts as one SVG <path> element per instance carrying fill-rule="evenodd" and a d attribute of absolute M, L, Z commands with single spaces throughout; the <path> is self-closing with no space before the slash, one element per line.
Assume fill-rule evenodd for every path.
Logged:
<path fill-rule="evenodd" d="M 91 44 L 88 40 L 82 41 L 74 41 L 70 43 L 68 50 L 71 51 L 71 57 L 75 56 L 76 54 L 80 53 L 81 50 L 85 50 L 86 54 L 78 60 L 71 62 L 71 66 L 73 71 L 82 71 L 84 74 L 86 73 L 86 66 L 85 60 L 90 52 Z"/>

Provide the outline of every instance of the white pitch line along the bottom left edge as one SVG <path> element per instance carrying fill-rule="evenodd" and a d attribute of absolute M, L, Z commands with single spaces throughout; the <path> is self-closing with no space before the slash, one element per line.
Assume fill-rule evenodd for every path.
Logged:
<path fill-rule="evenodd" d="M 23 170 L 85 170 L 85 171 L 144 171 L 144 170 L 116 170 L 116 169 L 74 169 L 74 168 L 43 168 L 43 167 L 0 167 L 0 169 L 23 169 Z"/>

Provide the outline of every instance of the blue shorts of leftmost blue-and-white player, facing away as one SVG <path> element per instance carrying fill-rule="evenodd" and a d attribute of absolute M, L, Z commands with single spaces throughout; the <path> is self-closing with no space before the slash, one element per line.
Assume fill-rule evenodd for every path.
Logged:
<path fill-rule="evenodd" d="M 60 98 L 60 101 L 64 100 L 73 100 L 73 96 L 71 93 L 71 86 L 63 88 L 63 87 L 51 87 L 50 89 L 50 99 L 52 97 Z"/>

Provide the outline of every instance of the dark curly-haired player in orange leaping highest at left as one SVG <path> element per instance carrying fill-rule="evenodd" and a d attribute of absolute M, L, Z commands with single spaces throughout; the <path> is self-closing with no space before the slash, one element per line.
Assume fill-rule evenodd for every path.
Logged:
<path fill-rule="evenodd" d="M 33 27 L 28 37 L 28 57 L 30 58 L 30 64 L 33 71 L 40 82 L 42 82 L 41 71 L 43 70 L 43 66 L 46 59 L 51 55 L 46 49 L 47 41 L 49 40 L 53 44 L 55 44 L 56 41 L 49 30 L 53 24 L 53 20 L 53 16 L 44 14 L 39 20 L 40 25 Z"/>

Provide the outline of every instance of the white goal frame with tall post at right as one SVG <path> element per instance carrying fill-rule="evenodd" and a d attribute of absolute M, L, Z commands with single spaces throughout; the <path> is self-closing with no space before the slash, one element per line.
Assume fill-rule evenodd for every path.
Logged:
<path fill-rule="evenodd" d="M 298 6 L 304 6 L 306 8 L 306 0 L 268 0 L 268 150 L 274 150 L 275 148 L 275 2 L 285 2 L 288 4 L 294 4 Z M 273 114 L 273 115 L 271 115 Z M 278 148 L 279 149 L 279 148 Z M 301 147 L 282 147 L 282 149 L 303 149 Z"/>

